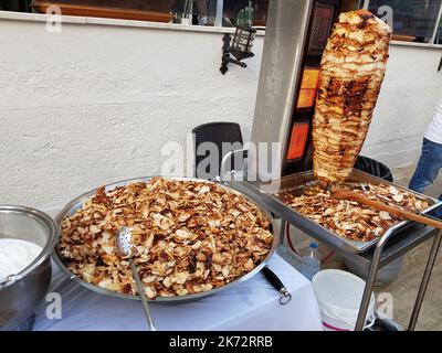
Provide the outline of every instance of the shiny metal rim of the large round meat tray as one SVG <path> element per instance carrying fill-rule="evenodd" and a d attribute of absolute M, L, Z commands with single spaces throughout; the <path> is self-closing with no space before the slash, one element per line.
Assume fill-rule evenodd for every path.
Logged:
<path fill-rule="evenodd" d="M 148 180 L 150 180 L 151 178 L 155 176 L 140 176 L 140 178 L 134 178 L 134 179 L 127 179 L 127 180 L 123 180 L 123 181 L 118 181 L 115 183 L 110 183 L 110 184 L 106 184 L 105 189 L 106 191 L 113 190 L 114 188 L 117 186 L 124 186 L 127 184 L 130 184 L 133 182 L 146 182 Z M 254 199 L 252 199 L 252 196 L 248 195 L 246 193 L 240 192 L 231 186 L 227 186 L 222 183 L 217 183 L 213 181 L 208 181 L 208 180 L 203 180 L 203 179 L 197 179 L 197 178 L 177 178 L 177 176 L 160 176 L 164 178 L 166 180 L 176 180 L 176 181 L 196 181 L 196 182 L 203 182 L 203 183 L 209 183 L 209 184 L 217 184 L 220 188 L 223 188 L 224 190 L 241 195 L 243 197 L 245 197 L 249 202 L 251 202 L 253 205 L 255 205 L 267 218 L 267 221 L 270 222 L 271 225 L 271 229 L 270 232 L 273 235 L 273 243 L 272 243 L 272 247 L 269 250 L 266 257 L 250 272 L 245 274 L 244 276 L 241 276 L 236 279 L 234 279 L 233 281 L 222 286 L 222 287 L 218 287 L 214 288 L 212 290 L 208 290 L 208 291 L 203 291 L 200 293 L 194 293 L 194 295 L 187 295 L 187 296 L 173 296 L 173 297 L 156 297 L 155 299 L 149 299 L 149 301 L 151 302 L 187 302 L 187 301 L 192 301 L 192 300 L 197 300 L 197 299 L 201 299 L 203 297 L 208 297 L 208 296 L 212 296 L 214 293 L 218 293 L 222 290 L 232 288 L 233 286 L 236 286 L 239 284 L 242 284 L 244 281 L 246 281 L 248 279 L 252 278 L 253 276 L 255 276 L 257 272 L 261 271 L 261 269 L 269 263 L 270 258 L 273 256 L 273 254 L 276 250 L 276 247 L 278 245 L 278 236 L 276 234 L 276 227 L 275 227 L 275 222 L 274 218 L 272 217 L 272 215 L 269 213 L 269 211 L 266 208 L 264 208 L 263 205 L 261 205 L 259 202 L 256 202 Z M 72 200 L 70 203 L 67 203 L 63 210 L 55 216 L 55 223 L 61 227 L 62 221 L 65 216 L 67 215 L 72 215 L 77 208 L 80 208 L 83 203 L 87 200 L 90 200 L 95 193 L 97 189 L 91 190 L 86 193 L 84 193 L 83 195 Z M 62 236 L 62 234 L 60 233 L 60 237 Z M 52 254 L 52 258 L 54 260 L 54 263 L 56 264 L 56 266 L 61 269 L 61 271 L 67 276 L 71 280 L 75 281 L 76 284 L 92 290 L 95 291 L 97 293 L 101 295 L 105 295 L 105 296 L 110 296 L 110 297 L 116 297 L 116 298 L 122 298 L 122 299 L 130 299 L 130 300 L 140 300 L 139 296 L 130 296 L 130 295 L 124 295 L 117 291 L 112 291 L 108 289 L 104 289 L 101 288 L 98 286 L 88 284 L 84 280 L 82 280 L 80 277 L 77 277 L 76 275 L 74 275 L 73 272 L 71 272 L 67 267 L 64 265 L 63 260 L 61 259 L 61 256 L 59 256 L 59 238 L 57 238 L 57 243 L 55 246 L 55 249 Z"/>

